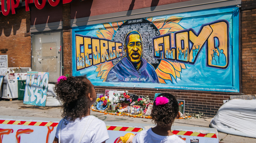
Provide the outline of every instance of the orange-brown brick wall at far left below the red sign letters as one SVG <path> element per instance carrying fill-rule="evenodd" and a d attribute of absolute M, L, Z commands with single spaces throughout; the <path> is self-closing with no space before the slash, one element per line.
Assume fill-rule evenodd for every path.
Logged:
<path fill-rule="evenodd" d="M 31 67 L 30 11 L 0 16 L 0 50 L 7 49 L 8 67 Z"/>

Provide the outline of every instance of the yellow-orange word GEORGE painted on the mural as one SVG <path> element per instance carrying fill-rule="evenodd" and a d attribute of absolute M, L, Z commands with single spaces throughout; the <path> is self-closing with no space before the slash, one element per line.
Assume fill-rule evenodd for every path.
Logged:
<path fill-rule="evenodd" d="M 76 69 L 95 66 L 123 57 L 123 43 L 90 36 L 75 36 Z"/>

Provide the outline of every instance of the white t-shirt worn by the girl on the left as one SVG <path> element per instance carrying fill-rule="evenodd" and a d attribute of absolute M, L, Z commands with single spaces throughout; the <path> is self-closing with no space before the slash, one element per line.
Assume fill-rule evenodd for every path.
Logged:
<path fill-rule="evenodd" d="M 64 118 L 63 118 L 64 119 Z M 55 136 L 59 138 L 60 120 Z M 65 125 L 66 124 L 66 125 Z M 60 130 L 61 143 L 78 143 L 83 132 L 81 143 L 101 143 L 109 139 L 105 122 L 90 115 L 75 121 L 63 120 Z"/>

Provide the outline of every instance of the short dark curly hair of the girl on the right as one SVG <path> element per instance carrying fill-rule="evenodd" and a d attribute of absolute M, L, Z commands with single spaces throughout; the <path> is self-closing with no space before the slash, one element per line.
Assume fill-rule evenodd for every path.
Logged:
<path fill-rule="evenodd" d="M 169 102 L 163 105 L 156 105 L 153 103 L 153 108 L 151 111 L 151 117 L 158 126 L 171 125 L 179 113 L 179 103 L 175 96 L 169 93 L 159 94 L 157 97 L 166 97 Z"/>

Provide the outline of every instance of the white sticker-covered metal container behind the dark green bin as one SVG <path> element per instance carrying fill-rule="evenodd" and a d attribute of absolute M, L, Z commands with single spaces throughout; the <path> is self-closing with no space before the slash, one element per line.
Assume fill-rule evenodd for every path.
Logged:
<path fill-rule="evenodd" d="M 0 97 L 10 100 L 18 98 L 18 80 L 26 80 L 28 71 L 31 71 L 31 68 L 7 68 Z"/>

